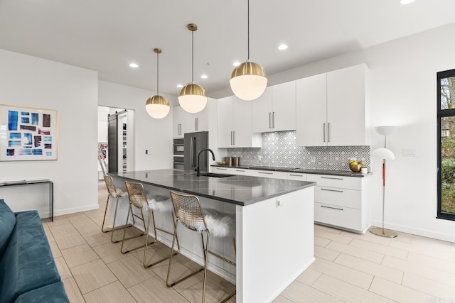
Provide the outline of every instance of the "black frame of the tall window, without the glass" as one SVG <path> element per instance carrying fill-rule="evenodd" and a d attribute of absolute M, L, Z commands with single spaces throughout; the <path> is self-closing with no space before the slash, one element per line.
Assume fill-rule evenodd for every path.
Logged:
<path fill-rule="evenodd" d="M 455 117 L 455 109 L 441 109 L 441 79 L 455 77 L 454 70 L 437 72 L 437 219 L 455 221 L 455 214 L 446 213 L 442 207 L 442 180 L 441 180 L 441 118 Z"/>

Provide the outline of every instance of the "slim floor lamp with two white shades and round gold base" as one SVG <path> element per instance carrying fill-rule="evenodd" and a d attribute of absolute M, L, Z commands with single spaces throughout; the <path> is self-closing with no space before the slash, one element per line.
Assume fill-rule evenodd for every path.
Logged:
<path fill-rule="evenodd" d="M 393 155 L 392 150 L 387 149 L 387 135 L 390 135 L 395 131 L 396 126 L 378 126 L 376 131 L 380 133 L 380 135 L 384 136 L 384 148 L 377 148 L 373 150 L 371 155 L 375 158 L 382 159 L 382 228 L 380 227 L 372 227 L 370 228 L 370 232 L 374 233 L 375 235 L 387 237 L 387 238 L 395 238 L 398 236 L 395 231 L 390 231 L 390 229 L 384 228 L 384 209 L 385 209 L 385 160 L 394 160 L 395 155 Z"/>

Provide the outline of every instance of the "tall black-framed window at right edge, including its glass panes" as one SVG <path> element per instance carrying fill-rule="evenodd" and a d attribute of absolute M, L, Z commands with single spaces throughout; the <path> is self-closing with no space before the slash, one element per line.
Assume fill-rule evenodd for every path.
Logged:
<path fill-rule="evenodd" d="M 438 214 L 455 220 L 455 70 L 437 73 Z"/>

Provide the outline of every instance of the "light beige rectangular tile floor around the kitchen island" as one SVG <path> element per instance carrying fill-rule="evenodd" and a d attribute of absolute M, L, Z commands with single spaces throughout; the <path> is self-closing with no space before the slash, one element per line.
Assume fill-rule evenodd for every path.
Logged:
<path fill-rule="evenodd" d="M 100 231 L 107 191 L 104 183 L 99 189 L 100 210 L 43 220 L 70 302 L 200 302 L 202 273 L 167 288 L 167 261 L 144 269 L 140 250 L 122 255 L 119 243 Z M 316 261 L 274 303 L 455 302 L 455 243 L 317 225 L 314 233 Z M 149 248 L 151 258 L 168 252 L 154 246 L 158 252 Z M 197 267 L 181 255 L 175 260 L 181 275 Z M 210 272 L 206 302 L 219 302 L 234 287 Z"/>

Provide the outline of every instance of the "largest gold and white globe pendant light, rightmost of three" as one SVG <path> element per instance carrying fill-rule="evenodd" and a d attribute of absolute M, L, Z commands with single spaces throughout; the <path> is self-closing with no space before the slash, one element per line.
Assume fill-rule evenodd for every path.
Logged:
<path fill-rule="evenodd" d="M 247 62 L 235 67 L 229 83 L 235 96 L 246 101 L 259 98 L 267 87 L 265 70 L 250 61 L 250 0 L 248 0 L 248 59 Z"/>

